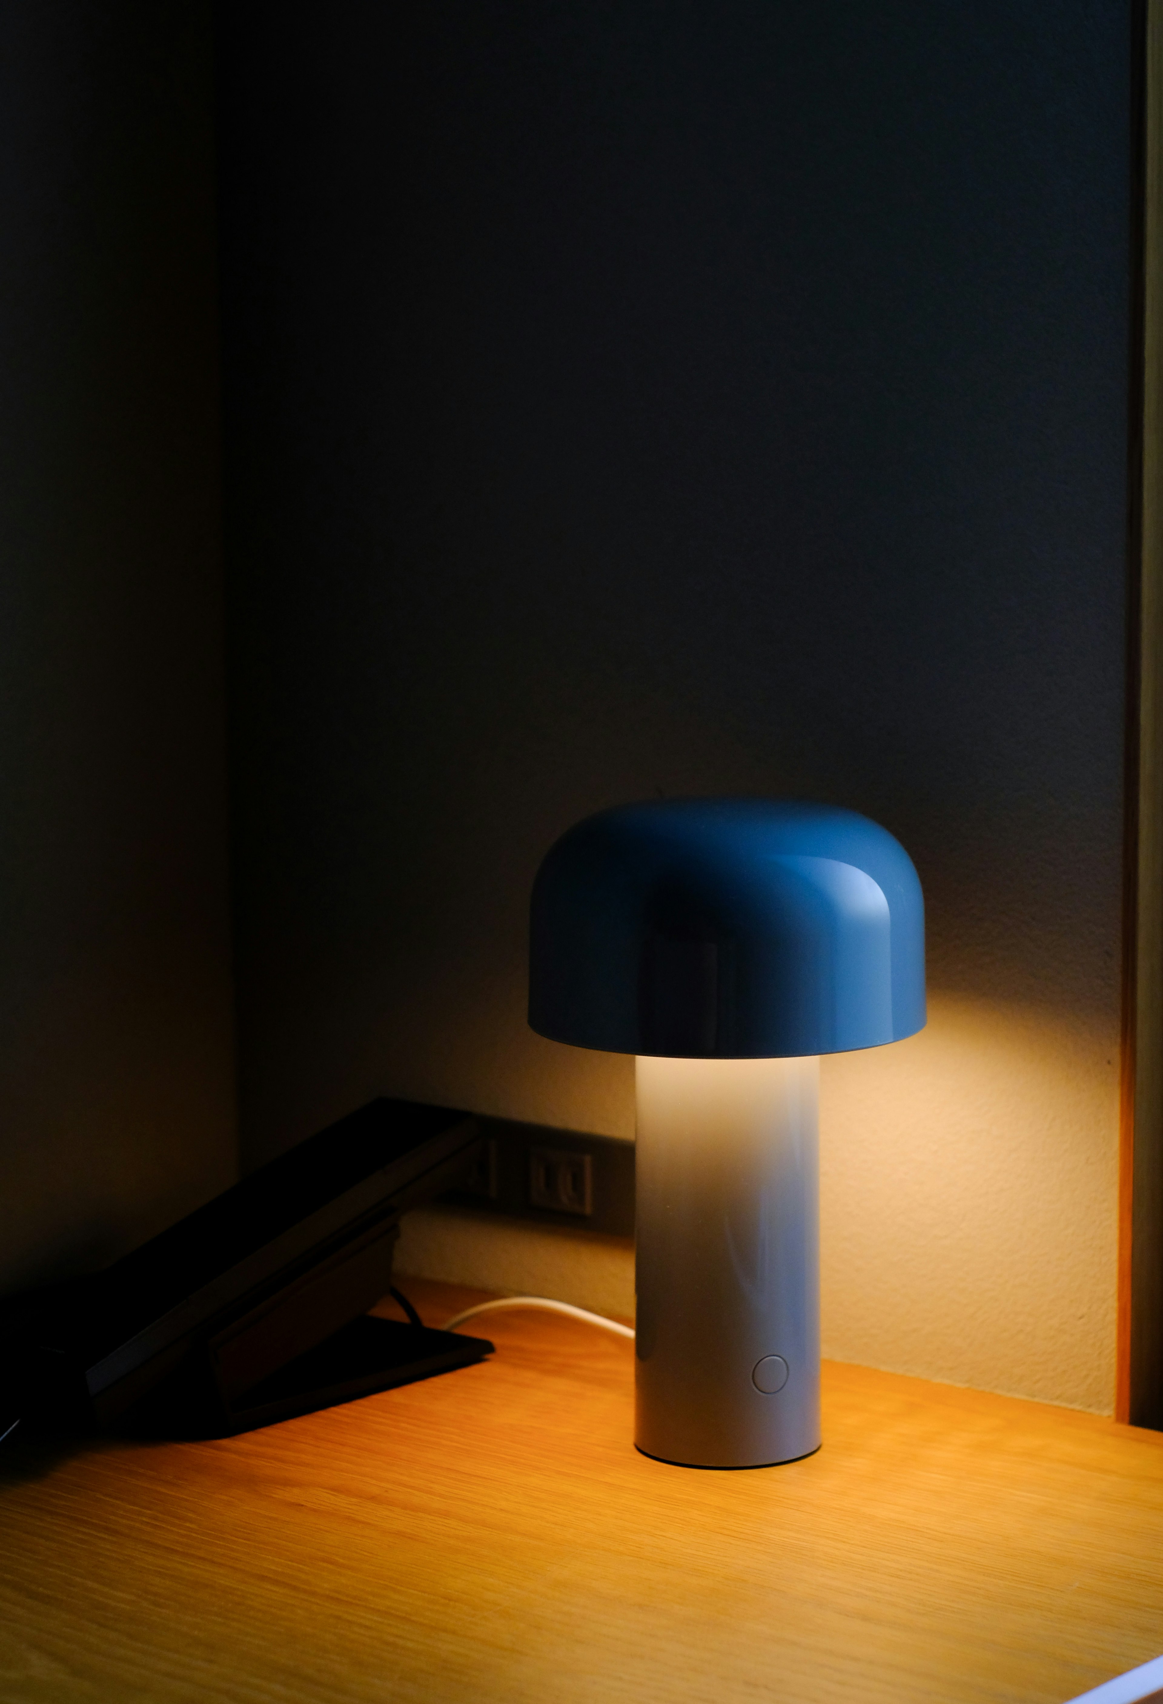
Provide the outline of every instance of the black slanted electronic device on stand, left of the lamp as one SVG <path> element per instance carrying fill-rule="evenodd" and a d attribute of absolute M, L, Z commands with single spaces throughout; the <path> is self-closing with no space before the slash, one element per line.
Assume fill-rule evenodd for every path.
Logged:
<path fill-rule="evenodd" d="M 477 1159 L 467 1113 L 372 1101 L 80 1285 L 9 1309 L 24 1411 L 240 1431 L 488 1355 L 481 1338 L 365 1317 L 399 1217 Z"/>

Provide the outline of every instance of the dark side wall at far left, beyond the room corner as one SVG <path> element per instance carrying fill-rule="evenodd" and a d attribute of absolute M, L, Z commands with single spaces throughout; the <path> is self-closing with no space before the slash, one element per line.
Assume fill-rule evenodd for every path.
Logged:
<path fill-rule="evenodd" d="M 0 1287 L 235 1171 L 208 7 L 0 7 Z"/>

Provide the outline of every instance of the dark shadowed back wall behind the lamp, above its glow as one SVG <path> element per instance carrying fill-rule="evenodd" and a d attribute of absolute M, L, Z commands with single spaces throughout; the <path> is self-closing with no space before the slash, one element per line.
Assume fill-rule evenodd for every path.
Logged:
<path fill-rule="evenodd" d="M 938 992 L 1114 1033 L 1125 7 L 218 51 L 251 1155 L 377 1087 L 624 1128 L 524 1031 L 525 903 L 655 792 L 868 811 Z"/>

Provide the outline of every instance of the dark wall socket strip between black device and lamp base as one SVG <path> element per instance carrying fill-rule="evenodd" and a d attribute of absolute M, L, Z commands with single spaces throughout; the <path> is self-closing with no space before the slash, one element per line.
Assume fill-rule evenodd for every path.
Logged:
<path fill-rule="evenodd" d="M 479 1157 L 442 1200 L 489 1217 L 634 1234 L 634 1143 L 512 1118 L 481 1118 Z"/>

